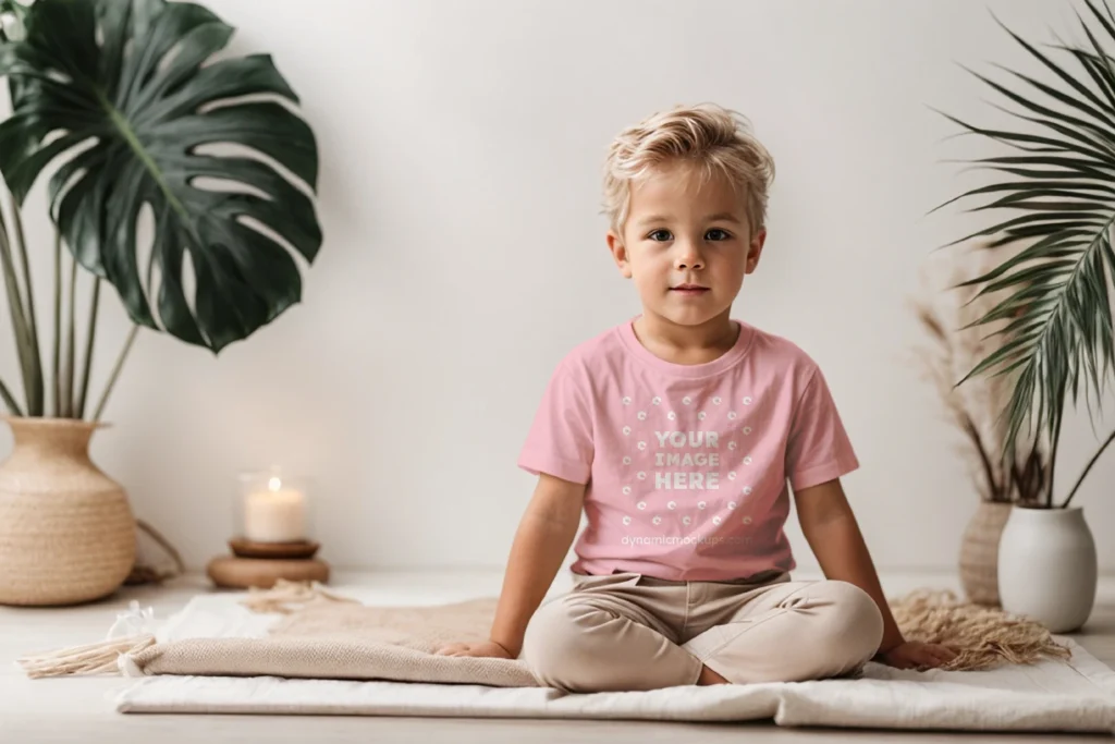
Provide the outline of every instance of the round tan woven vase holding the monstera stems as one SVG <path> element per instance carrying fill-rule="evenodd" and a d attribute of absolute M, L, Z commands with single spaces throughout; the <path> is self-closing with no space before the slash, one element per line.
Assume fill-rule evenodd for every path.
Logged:
<path fill-rule="evenodd" d="M 0 464 L 0 603 L 77 605 L 113 593 L 136 558 L 124 489 L 89 460 L 97 425 L 7 418 Z"/>

